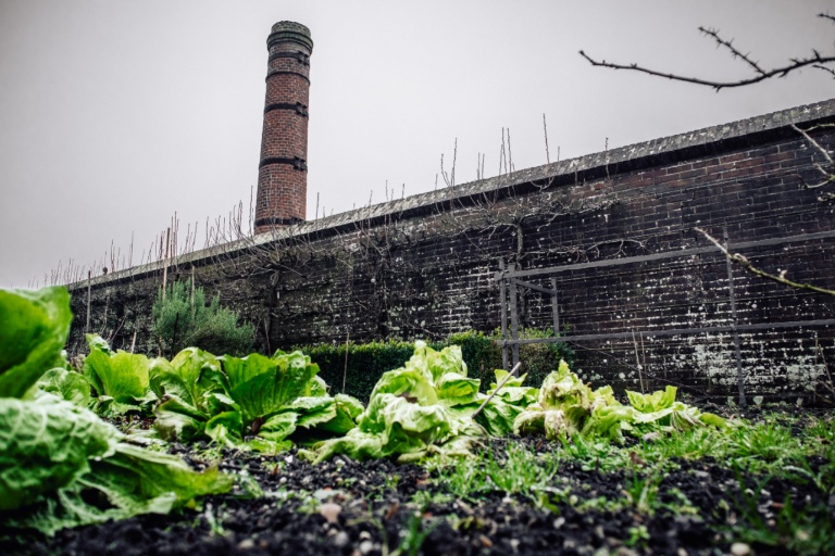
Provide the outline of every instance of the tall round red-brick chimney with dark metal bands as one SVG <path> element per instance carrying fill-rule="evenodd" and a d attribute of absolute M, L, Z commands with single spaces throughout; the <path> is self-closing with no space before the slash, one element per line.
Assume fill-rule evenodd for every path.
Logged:
<path fill-rule="evenodd" d="M 273 25 L 258 165 L 256 233 L 304 220 L 308 201 L 308 93 L 310 29 L 294 22 Z"/>

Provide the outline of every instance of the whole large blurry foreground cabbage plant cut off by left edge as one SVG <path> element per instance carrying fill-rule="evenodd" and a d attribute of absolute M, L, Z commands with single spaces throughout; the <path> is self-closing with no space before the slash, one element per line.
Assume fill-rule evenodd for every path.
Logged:
<path fill-rule="evenodd" d="M 0 290 L 0 529 L 53 534 L 166 514 L 228 491 L 232 479 L 216 469 L 198 473 L 175 456 L 127 444 L 84 407 L 83 377 L 49 368 L 60 361 L 70 319 L 63 288 Z"/>

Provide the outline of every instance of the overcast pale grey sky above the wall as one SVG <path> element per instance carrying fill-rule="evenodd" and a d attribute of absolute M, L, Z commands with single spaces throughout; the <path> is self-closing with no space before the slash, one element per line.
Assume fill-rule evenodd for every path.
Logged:
<path fill-rule="evenodd" d="M 311 29 L 308 218 L 434 189 L 458 139 L 457 181 L 835 97 L 818 70 L 739 90 L 591 67 L 706 77 L 747 68 L 702 37 L 734 38 L 764 66 L 835 51 L 822 0 L 209 1 L 0 0 L 0 287 L 59 263 L 100 271 L 111 243 L 134 263 L 174 213 L 227 215 L 258 177 L 266 36 Z M 321 211 L 321 208 L 320 208 Z M 202 240 L 200 240 L 202 241 Z M 198 244 L 200 247 L 200 243 Z M 86 271 L 86 270 L 85 270 Z"/>

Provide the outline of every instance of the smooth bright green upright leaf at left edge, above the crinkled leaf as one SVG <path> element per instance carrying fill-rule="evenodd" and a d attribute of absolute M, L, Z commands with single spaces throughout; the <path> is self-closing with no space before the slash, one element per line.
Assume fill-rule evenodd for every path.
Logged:
<path fill-rule="evenodd" d="M 73 315 L 65 288 L 0 290 L 0 397 L 23 397 L 59 356 Z"/>

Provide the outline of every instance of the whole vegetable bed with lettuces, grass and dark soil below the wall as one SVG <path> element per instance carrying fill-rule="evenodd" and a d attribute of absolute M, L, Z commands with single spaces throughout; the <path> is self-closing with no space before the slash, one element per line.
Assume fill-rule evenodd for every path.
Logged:
<path fill-rule="evenodd" d="M 0 554 L 835 553 L 826 412 L 619 400 L 564 362 L 482 393 L 423 342 L 363 404 L 301 352 L 89 336 L 73 367 L 71 318 L 0 290 Z"/>

